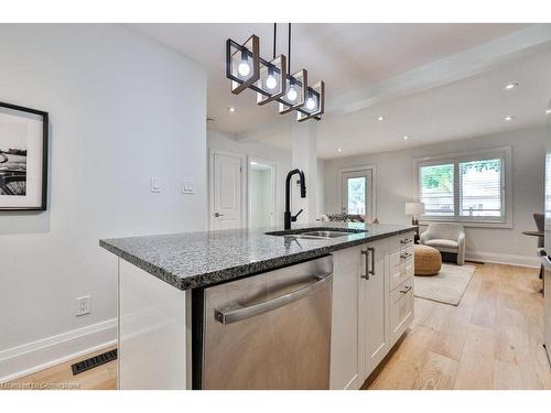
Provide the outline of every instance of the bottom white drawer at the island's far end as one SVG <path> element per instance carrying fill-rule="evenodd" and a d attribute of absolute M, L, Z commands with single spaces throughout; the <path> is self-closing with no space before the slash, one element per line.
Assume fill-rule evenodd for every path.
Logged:
<path fill-rule="evenodd" d="M 400 338 L 413 320 L 414 276 L 406 280 L 390 293 L 390 345 Z"/>

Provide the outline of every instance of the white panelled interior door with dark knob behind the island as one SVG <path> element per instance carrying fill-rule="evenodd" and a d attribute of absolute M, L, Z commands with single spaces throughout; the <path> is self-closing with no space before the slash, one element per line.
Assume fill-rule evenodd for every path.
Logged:
<path fill-rule="evenodd" d="M 213 152 L 210 173 L 210 229 L 242 227 L 242 157 Z"/>

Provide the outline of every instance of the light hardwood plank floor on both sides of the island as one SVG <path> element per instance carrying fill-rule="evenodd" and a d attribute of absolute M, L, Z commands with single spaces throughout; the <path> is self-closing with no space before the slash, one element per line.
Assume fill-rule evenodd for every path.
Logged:
<path fill-rule="evenodd" d="M 415 298 L 410 330 L 364 388 L 551 389 L 540 289 L 536 269 L 485 264 L 456 307 Z M 73 376 L 71 365 L 94 355 L 11 383 L 115 389 L 115 361 Z"/>

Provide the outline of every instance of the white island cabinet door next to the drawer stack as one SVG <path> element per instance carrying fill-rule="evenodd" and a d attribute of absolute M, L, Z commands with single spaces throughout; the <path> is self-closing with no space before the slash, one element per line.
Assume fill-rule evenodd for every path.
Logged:
<path fill-rule="evenodd" d="M 389 350 L 388 243 L 386 239 L 364 247 L 367 273 L 360 282 L 360 334 L 363 337 L 364 377 L 381 362 Z"/>

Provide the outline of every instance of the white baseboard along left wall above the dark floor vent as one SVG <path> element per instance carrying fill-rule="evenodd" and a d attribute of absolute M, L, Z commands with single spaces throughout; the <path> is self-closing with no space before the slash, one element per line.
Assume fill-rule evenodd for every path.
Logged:
<path fill-rule="evenodd" d="M 117 318 L 0 351 L 0 383 L 117 343 Z"/>

